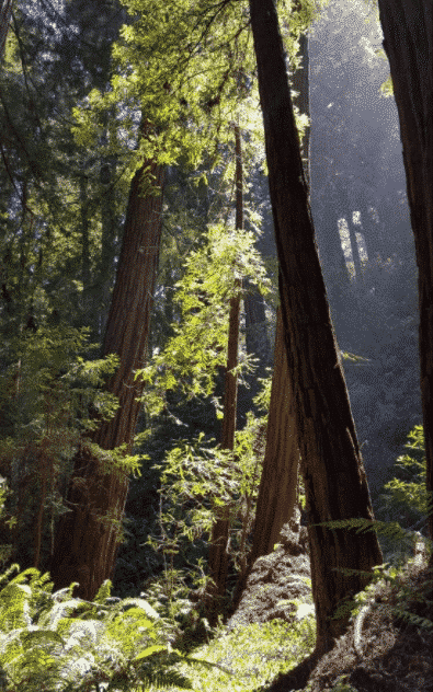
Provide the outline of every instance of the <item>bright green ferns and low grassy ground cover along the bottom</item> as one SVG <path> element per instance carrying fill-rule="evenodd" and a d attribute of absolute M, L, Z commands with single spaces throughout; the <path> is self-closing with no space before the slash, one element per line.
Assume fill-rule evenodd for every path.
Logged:
<path fill-rule="evenodd" d="M 0 576 L 0 690 L 252 692 L 294 667 L 315 642 L 309 616 L 230 634 L 209 628 L 214 638 L 184 654 L 175 648 L 175 623 L 145 599 L 111 597 L 105 581 L 86 601 L 72 597 L 73 587 L 53 593 L 48 574 L 20 573 L 18 565 Z"/>

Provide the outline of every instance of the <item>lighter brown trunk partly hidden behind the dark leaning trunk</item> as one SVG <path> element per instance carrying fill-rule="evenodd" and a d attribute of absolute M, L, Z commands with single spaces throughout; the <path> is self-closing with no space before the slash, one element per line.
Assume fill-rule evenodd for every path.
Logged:
<path fill-rule="evenodd" d="M 255 509 L 254 535 L 246 572 L 240 575 L 233 599 L 238 607 L 254 562 L 272 553 L 283 526 L 295 515 L 299 449 L 293 387 L 289 382 L 281 307 L 276 313 L 275 357 L 266 447 Z"/>

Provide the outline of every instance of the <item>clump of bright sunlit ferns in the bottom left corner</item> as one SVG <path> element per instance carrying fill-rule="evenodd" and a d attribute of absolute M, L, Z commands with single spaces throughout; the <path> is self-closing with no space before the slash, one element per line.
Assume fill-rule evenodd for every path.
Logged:
<path fill-rule="evenodd" d="M 0 577 L 0 666 L 8 692 L 192 689 L 179 662 L 206 665 L 173 649 L 172 627 L 141 598 L 110 596 L 105 581 L 92 602 L 73 585 L 52 593 L 49 575 L 26 569 Z M 212 662 L 207 664 L 213 666 Z"/>

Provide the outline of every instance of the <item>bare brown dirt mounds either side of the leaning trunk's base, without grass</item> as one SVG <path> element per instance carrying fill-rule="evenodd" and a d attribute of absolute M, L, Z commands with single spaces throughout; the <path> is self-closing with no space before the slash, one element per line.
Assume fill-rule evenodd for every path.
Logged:
<path fill-rule="evenodd" d="M 296 527 L 294 532 L 286 524 L 280 541 L 277 550 L 255 562 L 239 607 L 227 623 L 229 630 L 275 618 L 290 621 L 314 612 L 306 529 L 300 527 L 296 533 Z M 421 542 L 403 573 L 395 583 L 376 585 L 346 634 L 314 668 L 309 666 L 308 674 L 300 665 L 261 692 L 304 688 L 308 692 L 433 692 L 432 591 L 433 573 Z M 299 599 L 304 606 L 297 610 L 287 602 L 290 599 Z M 396 608 L 415 615 L 418 624 L 399 616 Z"/>

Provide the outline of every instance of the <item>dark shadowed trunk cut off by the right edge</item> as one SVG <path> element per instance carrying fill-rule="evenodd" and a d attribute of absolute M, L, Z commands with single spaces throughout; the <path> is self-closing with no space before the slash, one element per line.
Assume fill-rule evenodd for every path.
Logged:
<path fill-rule="evenodd" d="M 426 489 L 433 492 L 433 3 L 378 0 L 400 120 L 420 301 Z M 429 517 L 433 540 L 433 514 Z M 430 561 L 433 567 L 433 554 Z"/>

